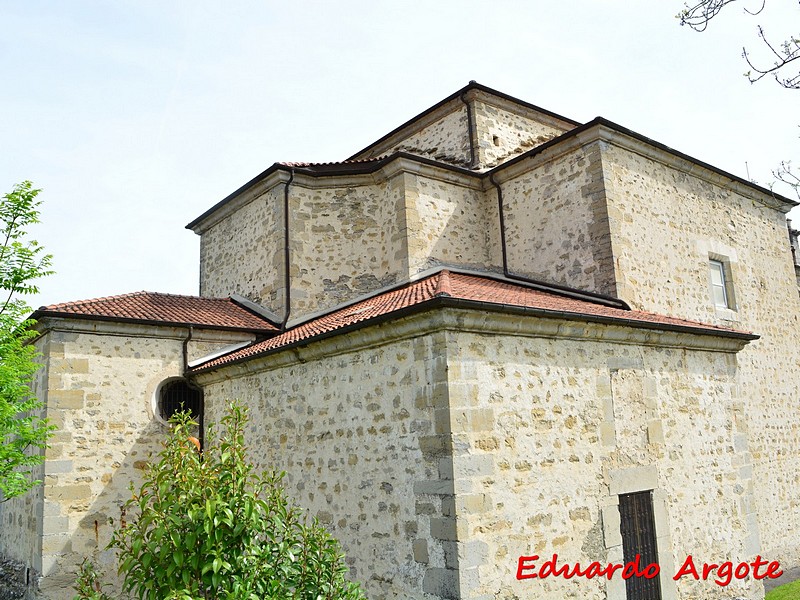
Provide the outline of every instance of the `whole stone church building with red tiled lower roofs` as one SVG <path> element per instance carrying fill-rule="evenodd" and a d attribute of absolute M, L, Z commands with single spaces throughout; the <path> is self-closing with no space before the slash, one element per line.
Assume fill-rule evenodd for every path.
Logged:
<path fill-rule="evenodd" d="M 763 598 L 673 575 L 800 565 L 795 204 L 475 82 L 347 160 L 276 163 L 188 225 L 198 297 L 35 312 L 58 432 L 0 554 L 55 600 L 83 557 L 113 572 L 175 398 L 205 424 L 240 398 L 372 600 Z M 554 554 L 660 575 L 530 576 Z"/>

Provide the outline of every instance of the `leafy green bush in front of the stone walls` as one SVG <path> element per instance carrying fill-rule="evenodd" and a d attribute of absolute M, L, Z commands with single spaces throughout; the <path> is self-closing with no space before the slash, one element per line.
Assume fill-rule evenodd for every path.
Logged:
<path fill-rule="evenodd" d="M 133 518 L 110 544 L 124 590 L 148 600 L 362 599 L 338 542 L 288 501 L 282 474 L 256 475 L 248 464 L 246 421 L 232 403 L 221 437 L 209 432 L 201 453 L 196 424 L 173 420 L 160 460 L 126 504 Z M 83 570 L 77 599 L 108 598 L 92 577 Z"/>

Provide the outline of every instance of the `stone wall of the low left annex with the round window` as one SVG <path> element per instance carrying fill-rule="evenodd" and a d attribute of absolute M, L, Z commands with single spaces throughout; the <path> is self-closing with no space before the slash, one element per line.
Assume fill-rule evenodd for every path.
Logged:
<path fill-rule="evenodd" d="M 190 360 L 246 337 L 194 336 Z M 153 417 L 151 400 L 159 383 L 181 375 L 185 338 L 185 330 L 145 326 L 46 334 L 47 415 L 58 427 L 45 466 L 41 587 L 47 598 L 73 597 L 84 558 L 107 581 L 117 581 L 114 554 L 105 547 L 120 524 L 129 483 L 140 484 L 151 454 L 160 450 L 166 427 Z"/>

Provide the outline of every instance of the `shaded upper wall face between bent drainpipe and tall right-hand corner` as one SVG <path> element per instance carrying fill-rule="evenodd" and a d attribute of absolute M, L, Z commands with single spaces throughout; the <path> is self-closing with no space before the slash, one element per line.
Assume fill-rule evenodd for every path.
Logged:
<path fill-rule="evenodd" d="M 500 186 L 509 271 L 614 294 L 603 166 L 596 144 L 542 157 Z"/>

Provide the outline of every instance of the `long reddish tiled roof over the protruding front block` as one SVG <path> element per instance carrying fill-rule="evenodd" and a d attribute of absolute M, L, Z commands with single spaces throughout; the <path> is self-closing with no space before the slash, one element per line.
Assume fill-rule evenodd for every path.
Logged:
<path fill-rule="evenodd" d="M 570 296 L 574 296 L 574 294 L 559 292 L 555 289 L 543 291 L 521 283 L 443 270 L 425 279 L 314 318 L 267 340 L 215 358 L 197 366 L 195 370 L 209 370 L 253 358 L 284 346 L 335 333 L 337 330 L 350 328 L 379 317 L 389 317 L 392 313 L 397 313 L 402 309 L 419 306 L 439 298 L 449 298 L 454 304 L 458 301 L 483 303 L 487 309 L 490 308 L 488 305 L 496 305 L 498 309 L 503 306 L 510 309 L 533 309 L 541 311 L 542 316 L 549 314 L 562 318 L 611 320 L 631 327 L 680 329 L 699 334 L 733 335 L 748 339 L 757 337 L 698 321 L 614 308 L 599 300 L 594 302 Z"/>

